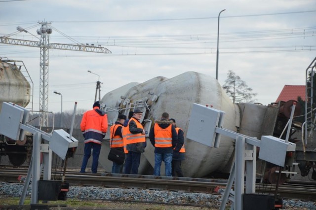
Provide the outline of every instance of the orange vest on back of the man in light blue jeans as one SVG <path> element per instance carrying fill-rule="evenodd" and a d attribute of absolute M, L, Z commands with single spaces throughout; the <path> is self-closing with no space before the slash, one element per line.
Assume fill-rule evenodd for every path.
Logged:
<path fill-rule="evenodd" d="M 160 128 L 157 123 L 154 126 L 155 133 L 155 147 L 171 147 L 172 146 L 172 133 L 170 124 L 166 128 Z"/>

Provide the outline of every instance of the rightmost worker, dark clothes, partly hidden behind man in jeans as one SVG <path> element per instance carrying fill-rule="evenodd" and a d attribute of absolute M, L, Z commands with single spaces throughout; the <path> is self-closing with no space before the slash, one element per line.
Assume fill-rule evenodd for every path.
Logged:
<path fill-rule="evenodd" d="M 172 176 L 179 176 L 183 177 L 183 173 L 181 170 L 181 161 L 185 159 L 185 148 L 184 148 L 184 132 L 182 131 L 181 128 L 178 128 L 176 125 L 176 120 L 175 119 L 170 119 L 172 121 L 173 126 L 175 127 L 177 134 L 178 134 L 178 141 L 177 144 L 173 150 L 173 155 L 172 155 Z M 182 146 L 181 146 L 182 145 Z M 180 147 L 180 149 L 179 149 Z"/>

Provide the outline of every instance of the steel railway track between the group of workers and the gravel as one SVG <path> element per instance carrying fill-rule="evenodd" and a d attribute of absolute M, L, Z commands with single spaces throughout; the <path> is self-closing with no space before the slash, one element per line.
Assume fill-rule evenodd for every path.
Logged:
<path fill-rule="evenodd" d="M 20 182 L 26 177 L 26 168 L 0 168 L 0 181 Z M 52 170 L 52 179 L 61 180 L 62 172 Z M 70 185 L 98 186 L 115 188 L 139 188 L 156 189 L 183 192 L 211 193 L 215 187 L 226 186 L 226 179 L 205 179 L 187 177 L 166 177 L 153 175 L 122 175 L 122 174 L 81 174 L 67 171 L 65 181 Z M 234 187 L 234 186 L 233 186 Z M 276 185 L 256 183 L 256 192 L 262 194 L 274 194 Z M 285 199 L 302 199 L 316 201 L 316 181 L 290 180 L 286 184 L 279 185 L 278 194 Z"/>

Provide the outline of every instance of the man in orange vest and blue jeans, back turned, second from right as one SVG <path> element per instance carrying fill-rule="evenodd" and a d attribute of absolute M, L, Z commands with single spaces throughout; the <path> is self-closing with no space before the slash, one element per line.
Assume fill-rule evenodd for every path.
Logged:
<path fill-rule="evenodd" d="M 161 120 L 155 121 L 154 127 L 149 133 L 150 142 L 155 146 L 154 175 L 160 175 L 161 163 L 164 161 L 165 174 L 171 176 L 172 152 L 178 140 L 172 123 L 173 121 L 169 121 L 169 114 L 163 112 Z"/>

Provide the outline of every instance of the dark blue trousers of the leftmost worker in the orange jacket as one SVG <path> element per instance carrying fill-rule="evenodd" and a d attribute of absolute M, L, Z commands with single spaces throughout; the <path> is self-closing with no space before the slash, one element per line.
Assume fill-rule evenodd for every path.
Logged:
<path fill-rule="evenodd" d="M 92 174 L 96 174 L 98 171 L 101 144 L 88 142 L 84 144 L 84 155 L 83 155 L 80 173 L 85 172 L 85 167 L 87 166 L 88 160 L 91 156 L 91 149 L 92 149 L 92 166 L 91 166 Z"/>

